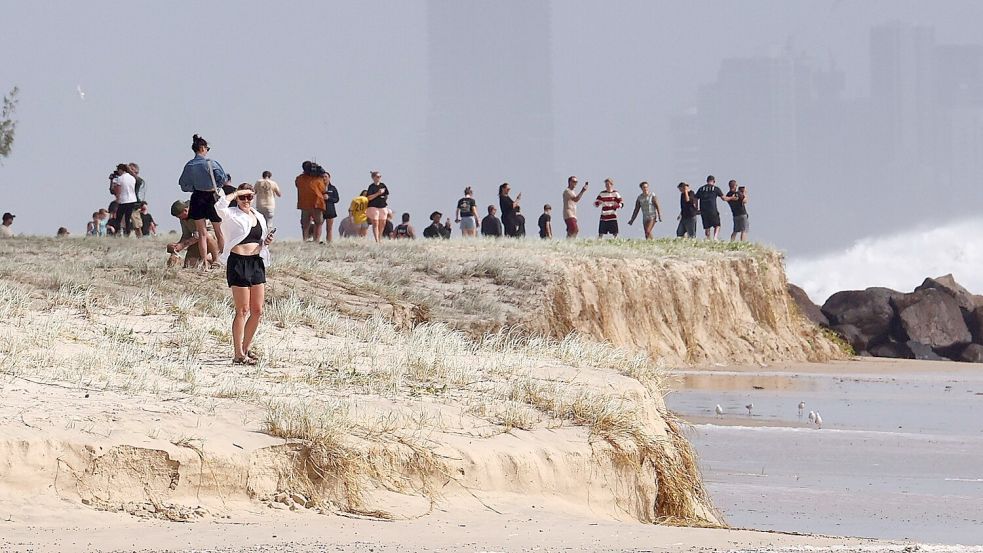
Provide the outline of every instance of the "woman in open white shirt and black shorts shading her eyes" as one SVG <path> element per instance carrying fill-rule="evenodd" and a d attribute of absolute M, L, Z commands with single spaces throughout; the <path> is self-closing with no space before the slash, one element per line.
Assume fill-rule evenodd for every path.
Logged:
<path fill-rule="evenodd" d="M 273 242 L 276 229 L 268 229 L 266 217 L 253 209 L 252 202 L 256 197 L 253 185 L 242 183 L 239 188 L 227 192 L 215 202 L 214 207 L 221 216 L 222 233 L 232 244 L 228 252 L 220 254 L 235 304 L 232 364 L 255 365 L 259 356 L 252 352 L 250 346 L 263 314 L 266 266 L 270 262 L 269 245 Z"/>

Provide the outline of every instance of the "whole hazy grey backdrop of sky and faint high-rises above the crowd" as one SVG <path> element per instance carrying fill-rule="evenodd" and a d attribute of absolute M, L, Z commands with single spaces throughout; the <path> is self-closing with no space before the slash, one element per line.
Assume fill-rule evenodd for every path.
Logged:
<path fill-rule="evenodd" d="M 81 233 L 91 212 L 111 199 L 105 177 L 123 161 L 140 163 L 158 223 L 176 228 L 167 206 L 182 196 L 176 180 L 196 132 L 213 143 L 212 155 L 236 181 L 273 171 L 286 191 L 276 221 L 285 237 L 299 236 L 292 183 L 309 158 L 332 172 L 344 204 L 368 183 L 369 170 L 381 170 L 393 209 L 409 211 L 417 224 L 434 209 L 451 213 L 468 184 L 487 205 L 508 180 L 523 192 L 532 222 L 543 203 L 559 205 L 569 174 L 591 181 L 588 198 L 613 177 L 629 206 L 638 182 L 648 180 L 665 211 L 657 236 L 675 228 L 675 183 L 699 183 L 713 173 L 718 182 L 737 178 L 749 186 L 752 238 L 791 256 L 972 216 L 983 199 L 976 186 L 956 191 L 983 169 L 973 161 L 983 158 L 977 155 L 983 118 L 975 89 L 933 91 L 933 106 L 952 104 L 936 111 L 908 99 L 905 91 L 917 90 L 917 83 L 899 85 L 901 102 L 893 107 L 883 101 L 889 92 L 869 84 L 877 77 L 872 29 L 895 22 L 932 29 L 945 59 L 972 65 L 965 60 L 973 48 L 965 46 L 981 42 L 978 2 L 441 0 L 285 7 L 247 0 L 174 6 L 0 6 L 6 20 L 0 91 L 21 89 L 13 155 L 0 167 L 0 211 L 18 215 L 18 232 L 53 235 L 67 226 Z M 435 10 L 443 19 L 434 19 Z M 209 26 L 191 20 L 215 22 L 215 30 L 202 31 Z M 107 24 L 112 21 L 125 23 Z M 713 140 L 695 135 L 700 157 L 689 166 L 680 161 L 687 146 L 686 135 L 674 132 L 687 129 L 678 126 L 681 115 L 699 114 L 701 101 L 704 113 L 710 105 L 727 108 L 720 99 L 728 93 L 755 90 L 749 77 L 755 71 L 785 71 L 767 69 L 764 60 L 778 67 L 806 58 L 814 75 L 831 79 L 836 102 L 826 107 L 836 106 L 836 118 L 823 117 L 813 103 L 812 127 L 796 123 L 798 138 L 790 143 L 784 123 L 754 116 L 774 106 L 788 113 L 789 95 L 779 91 L 794 83 L 775 83 L 768 87 L 770 100 L 730 98 L 730 108 L 702 131 Z M 886 126 L 832 124 L 857 125 L 864 101 L 883 108 L 890 124 L 909 126 L 885 134 Z M 920 142 L 925 133 L 918 121 L 925 120 L 948 129 L 933 136 L 931 151 Z M 822 130 L 802 134 L 811 128 Z M 870 130 L 874 140 L 858 138 L 857 132 Z M 927 169 L 917 173 L 878 158 L 887 144 L 877 137 L 886 135 L 898 137 L 897 147 L 907 150 L 895 151 L 906 159 L 932 164 L 918 163 Z M 719 155 L 704 159 L 707 151 Z M 538 176 L 547 170 L 550 175 Z M 730 217 L 726 206 L 721 209 L 729 234 Z M 584 234 L 592 235 L 597 211 L 582 204 L 581 218 Z M 622 228 L 629 237 L 641 235 L 638 228 Z"/>

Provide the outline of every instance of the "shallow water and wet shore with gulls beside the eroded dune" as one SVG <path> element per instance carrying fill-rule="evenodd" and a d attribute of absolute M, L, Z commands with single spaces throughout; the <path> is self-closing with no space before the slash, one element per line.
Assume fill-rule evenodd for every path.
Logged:
<path fill-rule="evenodd" d="M 689 438 L 727 522 L 983 545 L 983 368 L 842 368 L 681 375 L 666 403 L 693 425 Z M 806 420 L 810 410 L 821 413 L 822 429 Z"/>

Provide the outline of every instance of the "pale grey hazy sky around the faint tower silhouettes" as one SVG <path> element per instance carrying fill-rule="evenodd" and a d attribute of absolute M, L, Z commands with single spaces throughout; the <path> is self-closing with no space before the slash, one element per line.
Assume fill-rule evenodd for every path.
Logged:
<path fill-rule="evenodd" d="M 521 17 L 523 3 L 511 6 Z M 475 187 L 479 204 L 495 200 L 499 182 L 492 178 L 423 177 L 429 89 L 441 85 L 428 67 L 426 2 L 0 0 L 0 13 L 0 90 L 21 89 L 13 155 L 0 167 L 0 211 L 18 216 L 20 232 L 52 235 L 62 225 L 83 232 L 91 212 L 111 199 L 106 175 L 126 161 L 140 163 L 158 223 L 176 228 L 167 206 L 183 196 L 177 177 L 196 132 L 236 182 L 273 172 L 286 192 L 277 226 L 288 237 L 299 236 L 293 178 L 308 158 L 331 171 L 342 206 L 369 182 L 370 169 L 381 170 L 393 209 L 411 212 L 418 226 L 433 209 L 451 212 L 465 184 Z M 698 87 L 716 79 L 724 58 L 768 55 L 791 44 L 835 60 L 846 74 L 846 95 L 862 97 L 869 88 L 871 26 L 920 23 L 934 26 L 940 42 L 977 41 L 983 2 L 565 0 L 553 2 L 550 13 L 543 32 L 552 45 L 546 78 L 555 173 L 590 180 L 595 192 L 604 177 L 614 177 L 632 199 L 638 181 L 653 182 L 666 219 L 656 233 L 665 236 L 675 229 L 675 182 L 705 176 L 672 174 L 669 118 L 693 105 Z M 508 43 L 510 28 L 503 25 L 494 35 Z M 496 41 L 486 46 L 500 47 Z M 465 58 L 459 63 L 471 61 Z M 521 136 L 523 129 L 514 131 Z M 722 167 L 710 171 L 727 175 Z M 787 200 L 788 210 L 802 213 L 802 224 L 832 224 L 810 219 L 794 181 L 748 184 L 758 197 Z M 866 185 L 890 190 L 890 183 Z M 513 182 L 524 192 L 531 234 L 542 204 L 558 207 L 563 187 L 562 178 Z M 909 221 L 892 217 L 892 205 L 917 204 L 921 194 L 938 191 L 926 183 L 914 194 L 885 194 L 858 228 L 903 230 Z M 781 218 L 756 210 L 753 198 L 752 236 L 791 256 L 849 244 L 842 233 L 828 243 L 797 237 L 795 229 L 783 228 L 788 212 Z M 971 214 L 973 206 L 963 204 L 957 210 Z M 722 209 L 729 232 L 730 215 Z M 944 222 L 949 215 L 926 212 L 916 222 Z M 586 234 L 593 234 L 596 217 L 593 207 L 581 208 Z M 640 233 L 636 226 L 627 234 Z"/>

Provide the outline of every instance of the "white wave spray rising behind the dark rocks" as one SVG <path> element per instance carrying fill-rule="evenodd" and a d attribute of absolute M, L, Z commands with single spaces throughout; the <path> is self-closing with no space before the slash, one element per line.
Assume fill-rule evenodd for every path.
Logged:
<path fill-rule="evenodd" d="M 970 292 L 983 293 L 983 219 L 863 238 L 841 252 L 789 259 L 787 266 L 789 281 L 819 305 L 840 290 L 910 292 L 925 277 L 948 273 Z"/>

